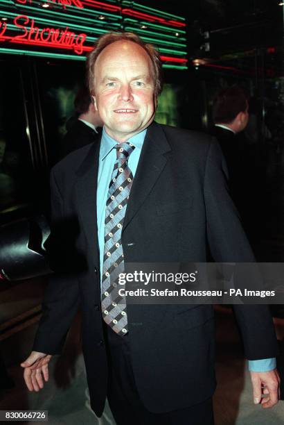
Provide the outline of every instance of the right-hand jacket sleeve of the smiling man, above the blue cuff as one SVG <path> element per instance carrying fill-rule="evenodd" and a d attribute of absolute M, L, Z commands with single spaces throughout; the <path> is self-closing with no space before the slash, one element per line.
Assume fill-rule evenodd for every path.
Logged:
<path fill-rule="evenodd" d="M 217 263 L 254 263 L 254 254 L 229 196 L 225 174 L 222 151 L 212 139 L 204 172 L 209 249 Z M 268 306 L 236 304 L 233 310 L 242 334 L 245 356 L 249 360 L 275 357 L 278 347 Z"/>

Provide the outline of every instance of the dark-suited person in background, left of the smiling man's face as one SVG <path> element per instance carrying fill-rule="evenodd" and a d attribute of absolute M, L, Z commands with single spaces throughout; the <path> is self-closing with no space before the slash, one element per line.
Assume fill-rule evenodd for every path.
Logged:
<path fill-rule="evenodd" d="M 81 87 L 74 100 L 76 117 L 69 120 L 67 133 L 62 140 L 62 158 L 68 153 L 92 142 L 98 142 L 103 122 L 91 101 L 89 89 Z"/>

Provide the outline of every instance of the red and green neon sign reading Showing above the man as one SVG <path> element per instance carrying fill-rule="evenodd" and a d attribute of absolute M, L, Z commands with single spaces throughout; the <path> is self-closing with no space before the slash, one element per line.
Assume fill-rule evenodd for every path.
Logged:
<path fill-rule="evenodd" d="M 128 0 L 0 0 L 0 54 L 85 60 L 100 35 L 123 30 L 153 43 L 163 67 L 187 69 L 185 27 L 183 17 Z"/>

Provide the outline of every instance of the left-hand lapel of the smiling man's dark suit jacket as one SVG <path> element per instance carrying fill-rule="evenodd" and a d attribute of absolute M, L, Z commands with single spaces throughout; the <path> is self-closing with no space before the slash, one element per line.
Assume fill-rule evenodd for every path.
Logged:
<path fill-rule="evenodd" d="M 76 182 L 76 200 L 79 219 L 85 231 L 91 253 L 98 253 L 98 226 L 96 191 L 98 183 L 98 162 L 100 142 L 91 146 L 80 165 Z M 95 256 L 94 256 L 95 258 Z"/>

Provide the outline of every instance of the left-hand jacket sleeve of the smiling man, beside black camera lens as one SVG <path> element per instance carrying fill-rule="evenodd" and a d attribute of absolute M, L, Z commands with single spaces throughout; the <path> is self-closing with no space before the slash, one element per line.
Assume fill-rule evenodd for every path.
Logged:
<path fill-rule="evenodd" d="M 64 261 L 64 240 L 57 234 L 64 222 L 63 199 L 58 188 L 54 169 L 51 171 L 51 235 L 48 238 L 48 253 L 51 269 L 54 258 Z M 56 267 L 55 267 L 56 269 Z M 44 293 L 42 317 L 35 335 L 33 350 L 46 354 L 60 354 L 66 334 L 79 306 L 78 279 L 62 270 L 51 275 Z"/>

